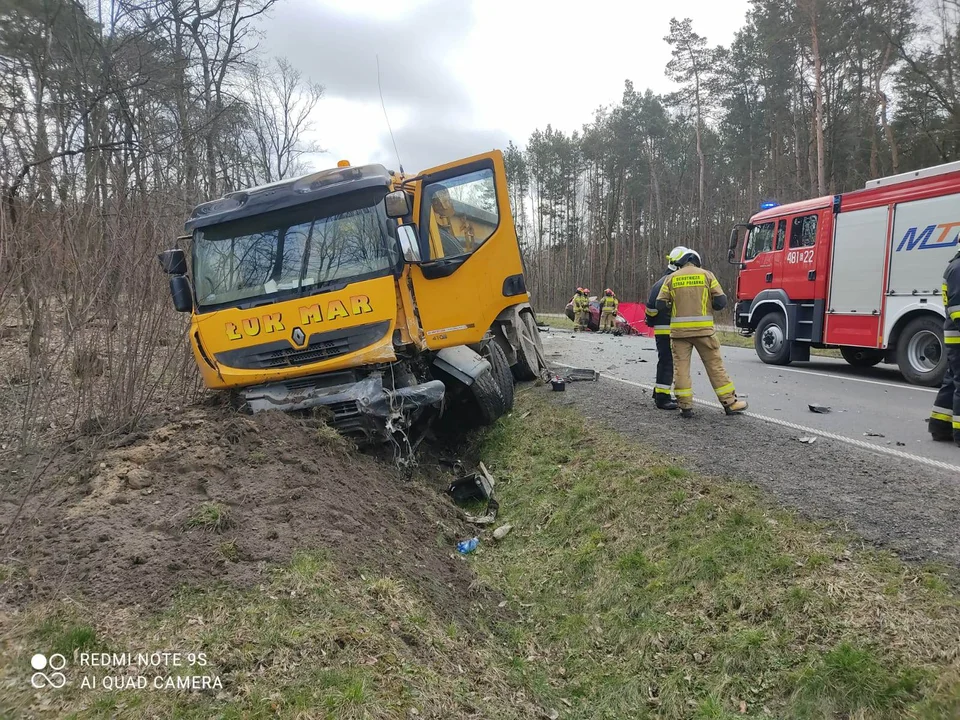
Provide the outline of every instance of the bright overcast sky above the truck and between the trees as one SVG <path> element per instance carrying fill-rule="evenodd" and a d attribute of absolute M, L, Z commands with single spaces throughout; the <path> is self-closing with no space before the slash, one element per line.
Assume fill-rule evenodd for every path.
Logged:
<path fill-rule="evenodd" d="M 396 168 L 377 90 L 407 172 L 524 145 L 536 128 L 572 131 L 623 81 L 671 89 L 664 77 L 671 17 L 691 17 L 711 44 L 727 44 L 748 0 L 282 0 L 261 49 L 284 56 L 326 88 L 315 137 L 343 158 Z"/>

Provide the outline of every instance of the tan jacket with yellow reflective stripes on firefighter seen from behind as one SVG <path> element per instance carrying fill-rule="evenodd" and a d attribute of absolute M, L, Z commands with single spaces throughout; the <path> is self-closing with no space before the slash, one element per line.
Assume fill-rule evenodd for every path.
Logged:
<path fill-rule="evenodd" d="M 713 335 L 713 311 L 726 306 L 727 297 L 714 274 L 693 263 L 664 280 L 657 295 L 657 309 L 670 308 L 672 338 Z"/>

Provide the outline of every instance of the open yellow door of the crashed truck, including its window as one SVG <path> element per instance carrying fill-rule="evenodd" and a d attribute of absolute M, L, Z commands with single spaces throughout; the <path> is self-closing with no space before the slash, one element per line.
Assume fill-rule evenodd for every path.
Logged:
<path fill-rule="evenodd" d="M 414 193 L 422 262 L 411 270 L 427 346 L 479 342 L 497 315 L 529 302 L 503 155 L 421 174 Z"/>

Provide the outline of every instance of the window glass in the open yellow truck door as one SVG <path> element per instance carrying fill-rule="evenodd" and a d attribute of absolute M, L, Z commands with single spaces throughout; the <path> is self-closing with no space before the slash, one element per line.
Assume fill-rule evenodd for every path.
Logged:
<path fill-rule="evenodd" d="M 431 260 L 469 255 L 500 223 L 493 170 L 487 168 L 428 185 L 423 202 L 430 208 Z"/>

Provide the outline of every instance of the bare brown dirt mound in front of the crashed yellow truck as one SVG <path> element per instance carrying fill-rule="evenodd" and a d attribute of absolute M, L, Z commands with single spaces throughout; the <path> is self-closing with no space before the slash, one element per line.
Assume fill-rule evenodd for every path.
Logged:
<path fill-rule="evenodd" d="M 49 473 L 21 503 L 0 504 L 13 568 L 0 598 L 14 605 L 66 595 L 159 606 L 181 585 L 256 584 L 268 565 L 318 549 L 407 579 L 441 612 L 477 598 L 452 552 L 470 531 L 449 500 L 320 421 L 190 408 L 82 472 Z"/>

